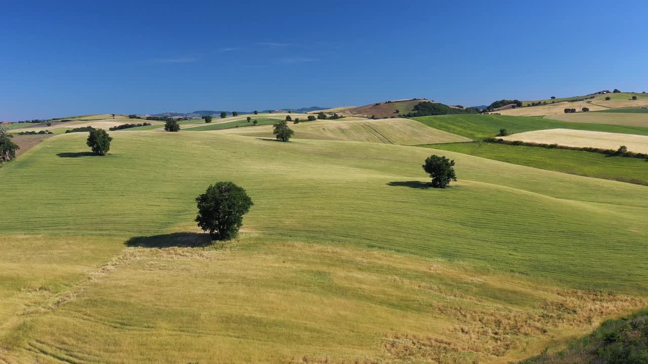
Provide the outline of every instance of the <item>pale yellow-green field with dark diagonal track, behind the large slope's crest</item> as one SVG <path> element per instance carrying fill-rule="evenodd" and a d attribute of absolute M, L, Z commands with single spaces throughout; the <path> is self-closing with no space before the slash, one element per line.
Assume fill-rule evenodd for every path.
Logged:
<path fill-rule="evenodd" d="M 466 137 L 430 128 L 410 119 L 380 119 L 340 121 L 323 120 L 290 124 L 298 139 L 376 142 L 384 144 L 416 145 L 441 142 L 470 141 Z M 272 126 L 235 128 L 218 131 L 253 137 L 273 137 Z"/>

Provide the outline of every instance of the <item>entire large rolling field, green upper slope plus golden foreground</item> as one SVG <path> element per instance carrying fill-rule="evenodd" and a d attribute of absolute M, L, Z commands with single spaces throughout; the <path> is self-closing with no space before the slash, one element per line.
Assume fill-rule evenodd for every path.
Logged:
<path fill-rule="evenodd" d="M 92 157 L 86 136 L 0 168 L 0 362 L 501 363 L 648 303 L 645 186 L 225 131 Z M 426 188 L 430 154 L 459 181 Z M 194 198 L 223 180 L 255 205 L 203 246 Z"/>

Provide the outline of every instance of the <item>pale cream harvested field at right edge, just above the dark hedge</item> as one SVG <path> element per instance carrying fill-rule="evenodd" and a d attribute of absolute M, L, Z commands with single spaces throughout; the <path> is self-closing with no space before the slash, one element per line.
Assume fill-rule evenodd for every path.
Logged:
<path fill-rule="evenodd" d="M 564 146 L 617 149 L 621 145 L 631 152 L 648 153 L 648 137 L 643 135 L 604 133 L 602 131 L 548 129 L 526 131 L 503 137 L 509 141 L 538 142 Z"/>

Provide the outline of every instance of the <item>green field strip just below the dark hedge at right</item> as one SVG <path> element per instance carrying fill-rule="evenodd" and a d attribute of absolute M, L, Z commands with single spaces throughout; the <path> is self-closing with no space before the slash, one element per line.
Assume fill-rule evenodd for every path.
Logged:
<path fill-rule="evenodd" d="M 609 157 L 579 150 L 485 142 L 430 144 L 427 147 L 579 176 L 648 185 L 648 166 L 642 159 Z"/>

